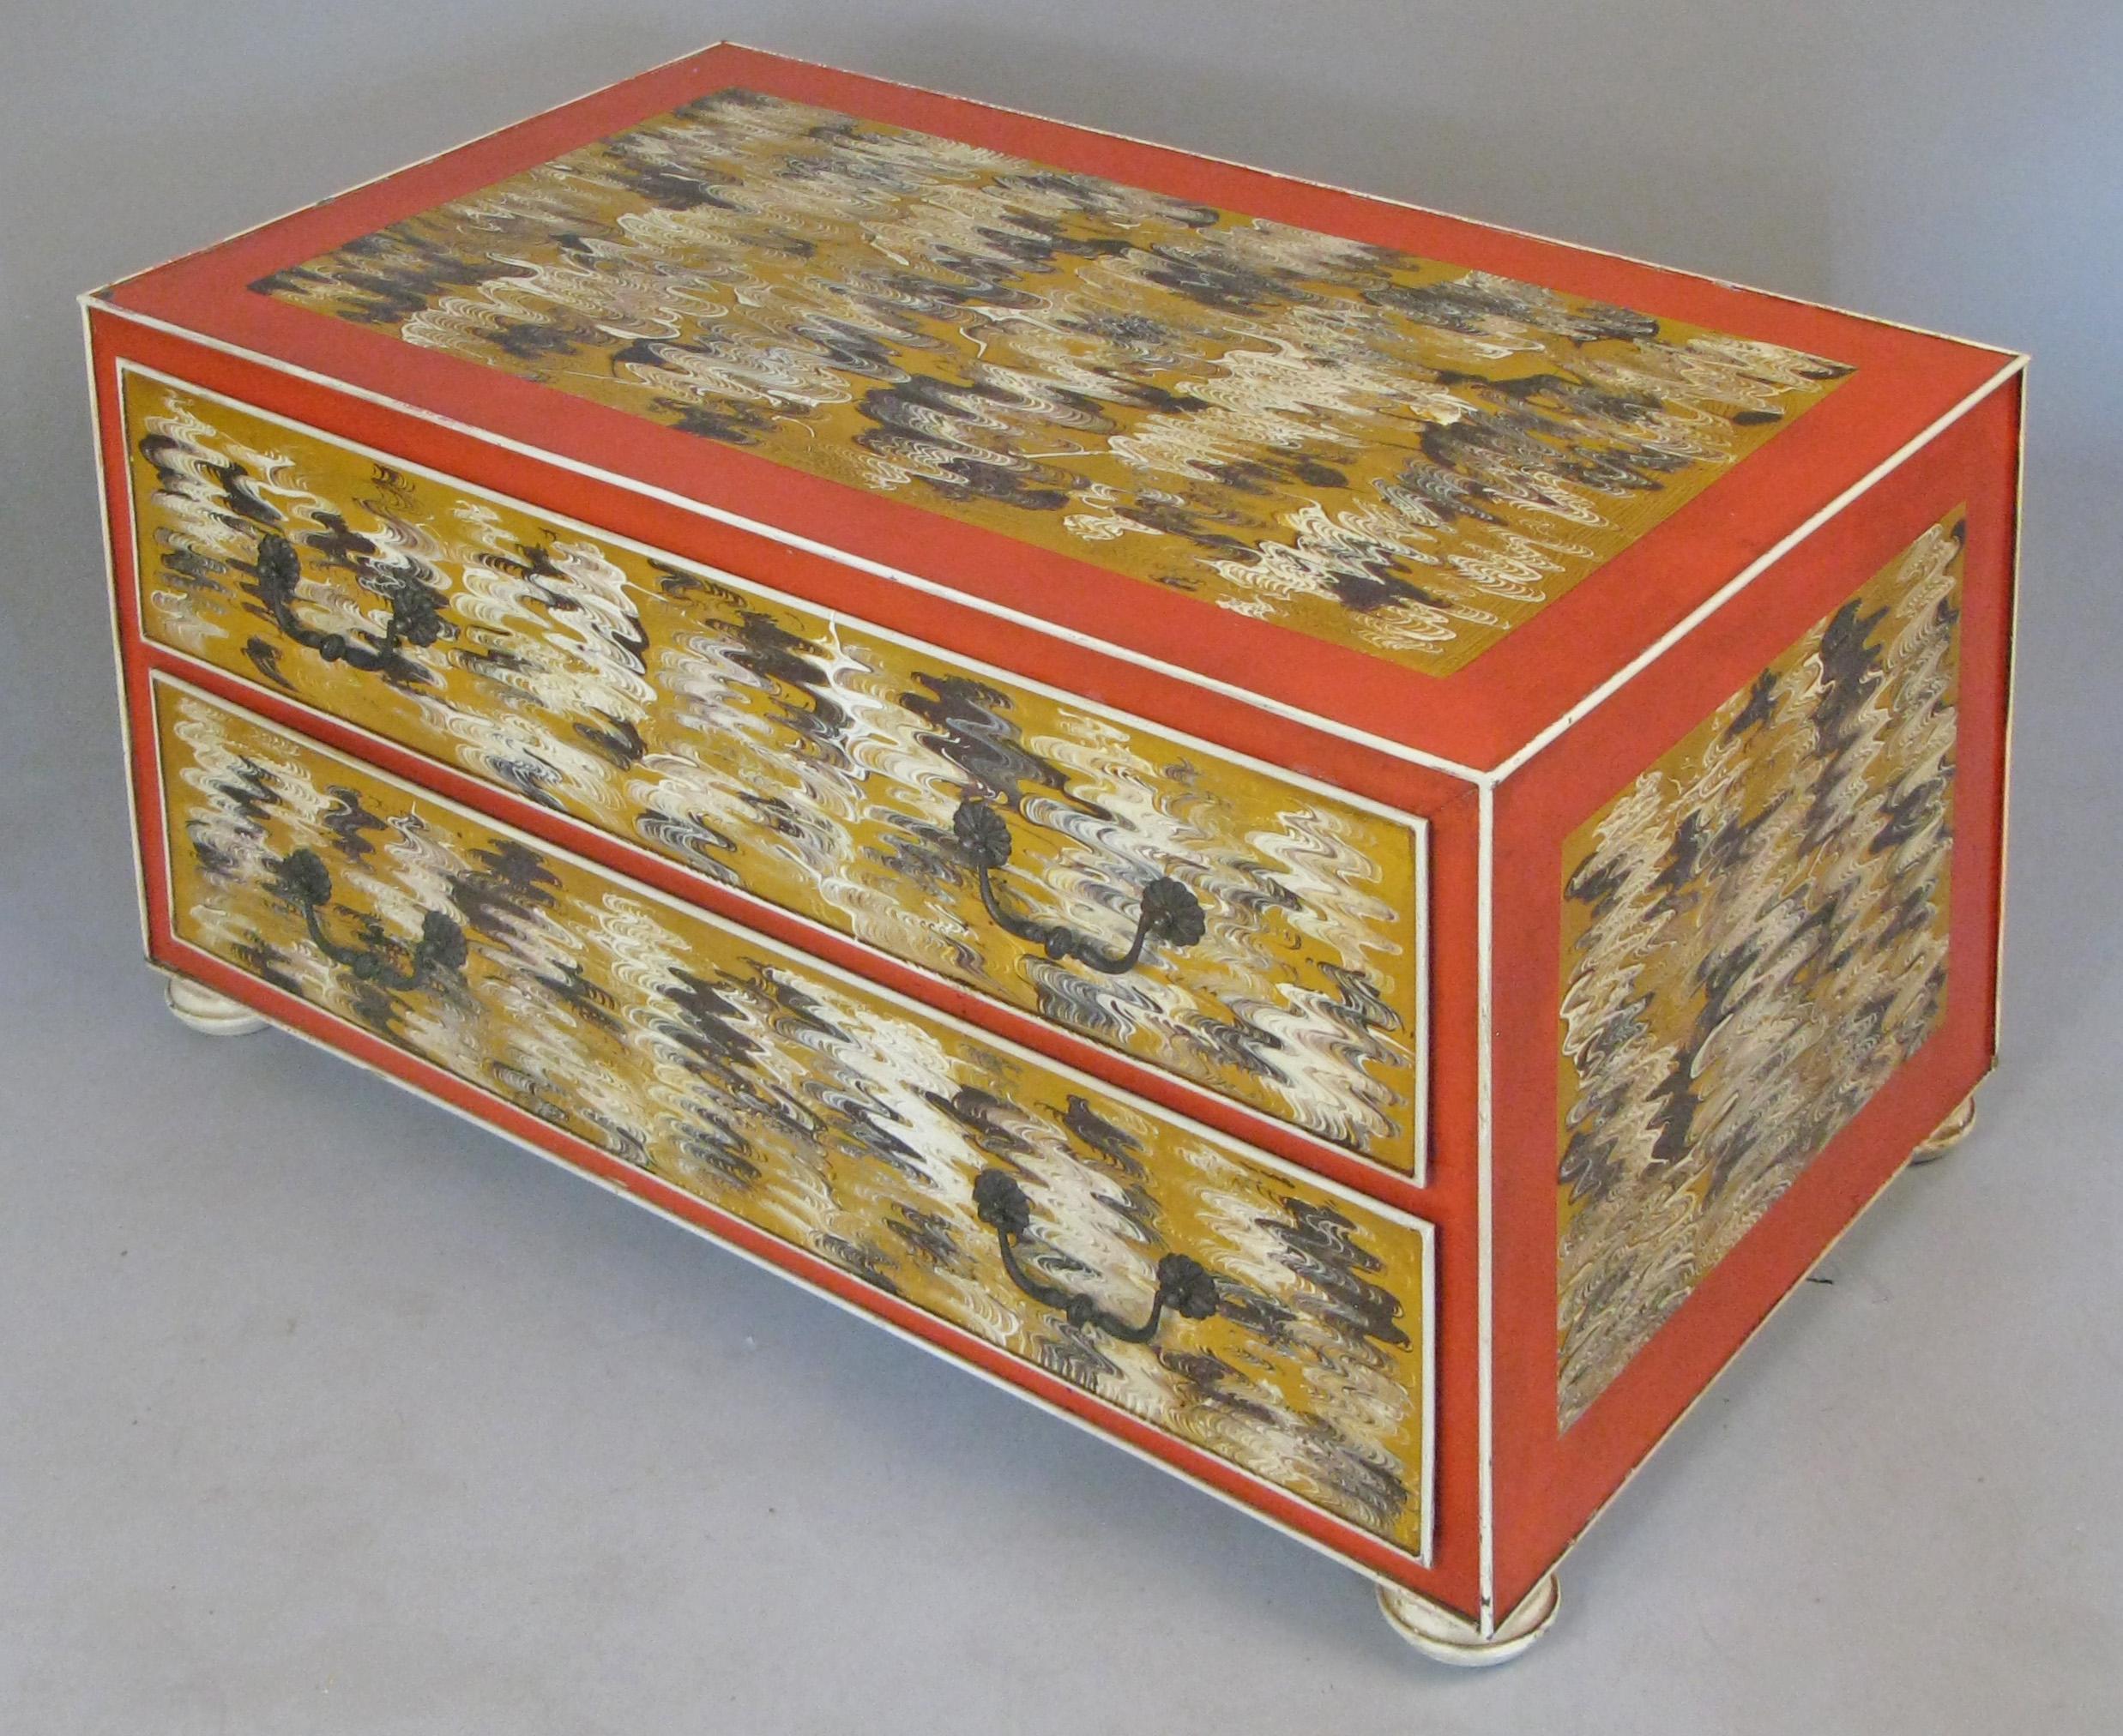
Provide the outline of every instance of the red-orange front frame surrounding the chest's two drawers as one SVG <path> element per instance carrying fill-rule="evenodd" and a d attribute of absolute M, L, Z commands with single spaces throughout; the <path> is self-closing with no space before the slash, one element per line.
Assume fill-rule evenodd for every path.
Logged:
<path fill-rule="evenodd" d="M 597 511 L 597 505 L 605 501 L 605 497 L 599 494 L 599 484 L 588 484 L 582 478 L 563 471 L 552 475 L 552 488 L 541 490 L 541 478 L 529 475 L 535 467 L 527 467 L 522 461 L 512 461 L 507 454 L 497 454 L 493 448 L 480 446 L 478 441 L 435 431 L 422 422 L 397 418 L 393 412 L 365 405 L 357 399 L 344 399 L 338 393 L 318 388 L 310 382 L 257 369 L 255 365 L 221 357 L 191 342 L 144 329 L 102 310 L 91 310 L 89 314 L 89 340 L 100 429 L 100 458 L 104 469 L 104 514 L 110 537 L 113 611 L 119 632 L 121 694 L 127 717 L 132 800 L 142 838 L 159 838 L 163 830 L 159 747 L 155 741 L 153 698 L 149 692 L 151 675 L 161 669 L 180 675 L 193 685 L 214 692 L 221 698 L 244 705 L 274 724 L 289 726 L 297 734 L 314 734 L 318 741 L 325 741 L 325 745 L 340 747 L 342 751 L 355 751 L 359 758 L 369 758 L 399 777 L 408 777 L 414 783 L 427 783 L 439 794 L 461 800 L 465 806 L 490 813 L 507 823 L 518 823 L 522 830 L 531 830 L 556 845 L 565 845 L 577 855 L 601 862 L 616 872 L 635 874 L 675 898 L 705 908 L 715 908 L 722 915 L 732 915 L 739 921 L 773 932 L 762 915 L 764 906 L 754 906 L 752 900 L 728 900 L 722 889 L 713 887 L 713 883 L 688 874 L 684 868 L 669 864 L 662 857 L 635 853 L 631 847 L 618 845 L 601 832 L 522 804 L 507 796 L 507 792 L 476 785 L 456 772 L 437 768 L 431 762 L 420 762 L 403 749 L 380 745 L 342 724 L 331 724 L 329 719 L 321 722 L 318 713 L 312 713 L 306 707 L 263 698 L 257 690 L 248 688 L 248 683 L 236 683 L 210 666 L 195 664 L 174 652 L 151 645 L 140 630 L 138 615 L 136 550 L 125 507 L 127 450 L 119 403 L 117 363 L 123 357 L 127 361 L 163 367 L 180 374 L 183 378 L 191 378 L 202 386 L 210 386 L 212 390 L 223 390 L 231 397 L 257 403 L 261 410 L 276 410 L 280 414 L 297 416 L 329 433 L 342 433 L 384 450 L 405 452 L 408 458 L 435 469 L 452 469 L 467 482 L 484 482 L 486 486 L 501 488 L 503 492 L 548 501 L 554 511 L 565 511 L 567 516 L 580 518 L 588 524 L 605 522 L 605 516 Z M 405 439 L 399 439 L 397 435 L 405 435 Z M 471 463 L 456 463 L 459 458 Z M 497 458 L 505 463 L 497 465 Z M 694 520 L 679 518 L 679 522 L 692 524 Z M 618 528 L 622 535 L 635 535 L 641 541 L 660 541 L 654 528 Z M 671 543 L 664 541 L 664 545 L 669 548 Z M 715 560 L 713 554 L 694 554 L 684 548 L 673 548 L 673 552 L 690 554 L 690 558 L 707 560 L 711 565 L 728 565 Z M 766 573 L 754 571 L 754 575 L 764 584 L 775 581 Z M 951 609 L 953 605 L 943 603 L 938 607 Z M 991 628 L 994 637 L 981 639 L 974 645 L 960 643 L 955 649 L 966 649 L 972 656 L 981 656 L 987 662 L 996 662 L 1006 669 L 1011 666 L 1011 658 L 996 656 L 994 647 L 1002 647 L 1004 652 L 1032 652 L 1034 666 L 1023 669 L 1023 673 L 1034 679 L 1068 679 L 1057 677 L 1053 671 L 1057 662 L 1066 660 L 1070 647 L 1055 645 L 1042 635 L 1030 635 L 1021 628 L 1002 628 L 1002 624 L 985 618 L 974 618 L 974 624 Z M 921 632 L 921 628 L 902 630 Z M 934 639 L 936 635 L 932 630 L 921 637 Z M 1189 698 L 1195 690 L 1176 688 L 1174 694 L 1178 698 Z M 1168 694 L 1168 698 L 1174 694 Z M 1431 1496 L 1433 1537 L 1429 1566 L 1416 1564 L 1393 1543 L 1386 1543 L 1384 1539 L 1378 1539 L 1344 1520 L 1321 1513 L 1276 1486 L 1240 1471 L 1227 1460 L 1214 1458 L 1187 1441 L 1163 1435 L 1132 1413 L 1055 1379 L 1045 1369 L 1021 1362 L 1008 1352 L 996 1350 L 985 1339 L 974 1339 L 949 1322 L 911 1309 L 881 1290 L 864 1286 L 858 1278 L 841 1271 L 839 1267 L 824 1265 L 815 1256 L 743 1225 L 743 1220 L 715 1212 L 703 1201 L 692 1199 L 692 1195 L 679 1195 L 643 1171 L 616 1163 L 594 1146 L 571 1140 L 535 1116 L 524 1116 L 514 1106 L 488 1097 L 478 1087 L 459 1080 L 454 1074 L 444 1074 L 442 1070 L 367 1034 L 350 1031 L 340 1021 L 318 1012 L 306 1002 L 287 995 L 267 983 L 244 976 L 206 953 L 200 953 L 195 947 L 178 940 L 172 930 L 170 891 L 159 849 L 142 851 L 140 885 L 146 951 L 149 959 L 166 970 L 193 976 L 231 1000 L 267 1012 L 272 1019 L 304 1031 L 331 1048 L 344 1051 L 393 1078 L 414 1084 L 416 1089 L 427 1091 L 429 1095 L 452 1104 L 480 1121 L 539 1146 L 539 1150 L 550 1152 L 563 1163 L 584 1169 L 601 1180 L 616 1182 L 628 1193 L 652 1201 L 660 1210 L 667 1210 L 686 1222 L 698 1225 L 701 1229 L 728 1239 L 758 1258 L 792 1271 L 860 1309 L 890 1320 L 894 1326 L 936 1346 L 938 1350 L 945 1350 L 947 1354 L 957 1356 L 1006 1384 L 1019 1386 L 1034 1396 L 1053 1403 L 1070 1416 L 1102 1428 L 1140 1452 L 1168 1462 L 1176 1471 L 1261 1511 L 1363 1573 L 1408 1585 L 1410 1590 L 1433 1598 L 1448 1609 L 1473 1613 L 1480 1604 L 1480 1479 L 1475 1471 L 1478 1263 L 1473 1229 L 1478 1148 L 1478 1027 L 1473 1012 L 1473 985 L 1478 968 L 1473 951 L 1478 881 L 1475 796 L 1467 785 L 1454 779 L 1352 747 L 1335 736 L 1321 736 L 1316 743 L 1310 743 L 1304 732 L 1293 730 L 1291 726 L 1263 728 L 1263 722 L 1272 719 L 1261 719 L 1244 707 L 1233 709 L 1236 722 L 1246 726 L 1240 730 L 1244 739 L 1216 741 L 1210 730 L 1199 726 L 1204 715 L 1212 722 L 1227 722 L 1221 707 L 1206 707 L 1193 713 L 1189 713 L 1187 707 L 1180 707 L 1180 715 L 1170 715 L 1166 719 L 1153 717 L 1149 722 L 1172 722 L 1174 726 L 1191 730 L 1214 745 L 1238 747 L 1240 751 L 1250 751 L 1257 758 L 1280 762 L 1293 770 L 1308 770 L 1310 775 L 1327 781 L 1335 781 L 1335 772 L 1342 772 L 1340 781 L 1344 787 L 1354 787 L 1359 794 L 1365 794 L 1365 789 L 1382 792 L 1378 800 L 1418 811 L 1425 819 L 1429 819 L 1433 923 L 1429 1180 L 1418 1188 L 1408 1178 L 1395 1176 L 1393 1171 L 1380 1169 L 1363 1159 L 1335 1152 L 1348 1169 L 1348 1174 L 1344 1174 L 1342 1169 L 1331 1169 L 1323 1163 L 1323 1148 L 1312 1142 L 1304 1142 L 1304 1155 L 1293 1157 L 1293 1161 L 1299 1161 L 1318 1174 L 1329 1174 L 1335 1180 L 1369 1193 L 1371 1197 L 1422 1216 L 1435 1229 L 1433 1379 L 1437 1390 L 1433 1418 L 1435 1449 L 1431 1475 L 1435 1483 Z M 1312 745 L 1318 749 L 1316 762 L 1312 762 L 1308 753 L 1308 747 Z M 1280 747 L 1280 753 L 1259 751 L 1261 747 Z M 1416 800 L 1420 800 L 1422 806 L 1416 806 Z M 715 896 L 711 898 L 709 893 Z M 790 917 L 781 917 L 779 921 L 794 923 Z M 802 927 L 805 934 L 800 944 L 809 951 L 830 957 L 834 964 L 885 983 L 887 987 L 902 987 L 902 991 L 907 991 L 904 985 L 894 980 L 894 970 L 902 968 L 894 966 L 883 955 L 873 955 L 845 940 L 836 942 L 839 951 L 834 951 L 822 942 L 822 936 L 811 934 L 807 925 Z M 940 1004 L 945 1010 L 960 1012 L 960 1017 L 974 1019 L 974 1023 L 1002 1029 L 1004 1036 L 1017 1036 L 1006 1021 L 994 1017 L 998 1012 L 994 1004 L 968 997 L 972 1002 L 970 1006 L 957 1006 L 945 995 L 938 995 L 936 985 L 930 978 L 921 978 L 919 997 L 930 1004 Z M 1057 1036 L 1059 1034 L 1040 1027 L 1036 1031 L 1038 1042 L 1028 1042 L 1028 1046 L 1038 1046 L 1045 1053 L 1053 1053 L 1059 1059 L 1076 1063 L 1076 1057 L 1068 1053 L 1068 1046 L 1074 1040 L 1064 1036 L 1062 1042 L 1057 1042 Z M 1170 1080 L 1159 1080 L 1159 1076 L 1149 1070 L 1136 1070 L 1125 1061 L 1115 1063 L 1106 1051 L 1100 1051 L 1095 1059 L 1100 1061 L 1100 1067 L 1104 1067 L 1100 1076 L 1110 1076 L 1117 1084 L 1123 1084 L 1142 1097 L 1155 1099 L 1157 1089 L 1161 1084 L 1170 1084 Z M 1087 1072 L 1093 1070 L 1089 1061 L 1083 1065 Z M 1195 1093 L 1185 1087 L 1178 1089 L 1189 1097 L 1187 1112 L 1195 1112 L 1199 1108 L 1199 1104 L 1193 1101 Z"/>

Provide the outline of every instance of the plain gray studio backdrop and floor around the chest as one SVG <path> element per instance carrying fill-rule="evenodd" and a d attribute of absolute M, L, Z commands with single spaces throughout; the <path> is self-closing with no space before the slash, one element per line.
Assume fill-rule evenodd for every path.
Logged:
<path fill-rule="evenodd" d="M 1522 1664 L 136 964 L 76 291 L 718 36 L 2036 352 L 2006 1065 Z M 0 1730 L 2123 1728 L 2115 4 L 0 0 Z"/>

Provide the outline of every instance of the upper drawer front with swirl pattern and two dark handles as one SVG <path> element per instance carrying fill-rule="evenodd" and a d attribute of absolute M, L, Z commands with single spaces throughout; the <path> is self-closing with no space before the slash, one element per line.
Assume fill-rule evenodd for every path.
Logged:
<path fill-rule="evenodd" d="M 1420 819 L 121 378 L 151 639 L 1420 1167 Z"/>

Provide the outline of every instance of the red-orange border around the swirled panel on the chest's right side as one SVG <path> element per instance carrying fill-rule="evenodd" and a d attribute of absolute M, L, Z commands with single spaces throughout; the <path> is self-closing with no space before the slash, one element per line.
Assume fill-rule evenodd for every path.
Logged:
<path fill-rule="evenodd" d="M 1989 1072 L 2021 384 L 1802 541 L 1497 794 L 1497 1607 L 1590 1524 L 1834 1237 Z M 1955 849 L 1940 1027 L 1696 1286 L 1577 1424 L 1556 1420 L 1563 840 L 1955 505 L 1968 505 Z"/>

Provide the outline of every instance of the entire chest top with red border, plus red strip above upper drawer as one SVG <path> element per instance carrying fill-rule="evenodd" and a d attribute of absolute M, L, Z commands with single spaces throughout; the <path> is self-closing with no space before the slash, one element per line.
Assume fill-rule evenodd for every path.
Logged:
<path fill-rule="evenodd" d="M 2019 367 L 735 42 L 85 301 L 176 378 L 1410 811 Z"/>

